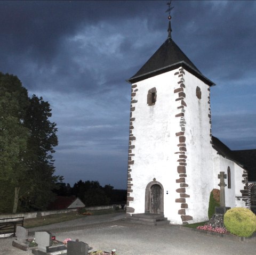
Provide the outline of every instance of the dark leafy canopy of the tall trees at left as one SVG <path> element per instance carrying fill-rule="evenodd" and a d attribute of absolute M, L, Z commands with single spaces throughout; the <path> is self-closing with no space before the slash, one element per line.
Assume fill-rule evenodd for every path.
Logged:
<path fill-rule="evenodd" d="M 0 212 L 45 209 L 62 180 L 53 175 L 58 138 L 50 117 L 48 102 L 0 72 Z"/>

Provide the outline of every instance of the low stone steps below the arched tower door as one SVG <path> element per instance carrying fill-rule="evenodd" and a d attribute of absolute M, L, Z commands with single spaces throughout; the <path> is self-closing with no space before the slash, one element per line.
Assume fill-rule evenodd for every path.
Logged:
<path fill-rule="evenodd" d="M 170 220 L 167 220 L 164 215 L 156 213 L 134 213 L 132 216 L 127 217 L 126 221 L 149 226 L 167 225 L 170 223 Z"/>

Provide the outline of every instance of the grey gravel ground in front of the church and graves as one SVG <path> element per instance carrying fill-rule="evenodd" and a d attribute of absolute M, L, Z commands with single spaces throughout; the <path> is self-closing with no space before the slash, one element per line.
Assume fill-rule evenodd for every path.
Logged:
<path fill-rule="evenodd" d="M 179 226 L 145 226 L 122 220 L 124 213 L 114 215 L 89 216 L 65 223 L 52 224 L 33 231 L 47 230 L 57 240 L 71 238 L 88 243 L 93 250 L 111 251 L 116 249 L 118 255 L 255 255 L 256 237 L 249 242 L 238 242 L 217 236 L 204 235 L 182 230 Z M 31 254 L 12 247 L 12 238 L 0 240 L 2 255 Z"/>

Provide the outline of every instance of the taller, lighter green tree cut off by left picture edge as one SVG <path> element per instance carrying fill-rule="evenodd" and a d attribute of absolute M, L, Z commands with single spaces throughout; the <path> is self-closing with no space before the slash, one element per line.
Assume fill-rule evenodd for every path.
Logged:
<path fill-rule="evenodd" d="M 27 90 L 22 87 L 20 80 L 0 72 L 1 211 L 10 211 L 12 203 L 13 211 L 17 209 L 18 185 L 27 170 L 23 160 L 28 139 L 28 129 L 23 125 L 27 106 Z M 14 196 L 12 191 L 15 191 Z"/>

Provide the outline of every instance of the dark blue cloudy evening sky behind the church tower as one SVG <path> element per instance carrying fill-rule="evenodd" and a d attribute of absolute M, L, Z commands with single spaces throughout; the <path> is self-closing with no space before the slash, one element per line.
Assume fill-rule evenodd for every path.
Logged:
<path fill-rule="evenodd" d="M 43 96 L 57 175 L 126 188 L 130 78 L 167 38 L 167 1 L 1 1 L 0 71 Z M 173 1 L 172 38 L 217 86 L 213 135 L 256 149 L 256 1 Z"/>

